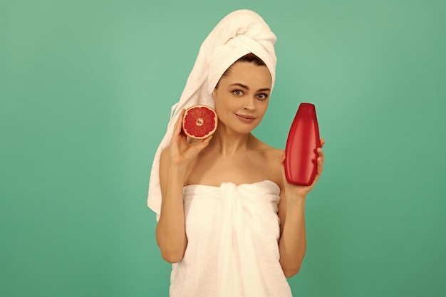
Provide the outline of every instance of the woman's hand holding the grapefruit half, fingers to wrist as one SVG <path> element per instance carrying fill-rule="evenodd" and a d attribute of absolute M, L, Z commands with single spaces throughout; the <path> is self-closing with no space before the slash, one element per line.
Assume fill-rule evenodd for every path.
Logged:
<path fill-rule="evenodd" d="M 181 110 L 177 123 L 173 128 L 172 139 L 170 140 L 170 162 L 172 165 L 187 166 L 197 157 L 204 147 L 209 145 L 212 135 L 204 140 L 187 142 L 187 136 L 182 131 L 182 119 L 185 115 L 185 109 Z"/>

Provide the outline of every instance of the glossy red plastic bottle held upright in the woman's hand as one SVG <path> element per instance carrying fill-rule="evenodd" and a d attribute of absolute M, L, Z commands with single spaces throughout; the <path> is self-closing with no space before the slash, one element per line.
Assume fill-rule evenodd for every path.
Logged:
<path fill-rule="evenodd" d="M 289 184 L 309 186 L 317 172 L 319 138 L 316 108 L 311 103 L 301 103 L 289 130 L 285 147 L 285 176 Z"/>

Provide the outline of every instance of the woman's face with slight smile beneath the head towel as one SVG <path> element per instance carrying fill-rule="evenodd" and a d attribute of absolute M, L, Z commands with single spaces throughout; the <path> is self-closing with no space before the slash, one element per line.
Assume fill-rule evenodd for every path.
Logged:
<path fill-rule="evenodd" d="M 235 63 L 212 92 L 219 125 L 235 132 L 251 132 L 268 108 L 271 84 L 271 73 L 266 66 Z"/>

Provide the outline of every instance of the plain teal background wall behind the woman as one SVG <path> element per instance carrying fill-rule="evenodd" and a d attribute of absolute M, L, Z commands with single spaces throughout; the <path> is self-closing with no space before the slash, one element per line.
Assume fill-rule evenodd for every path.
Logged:
<path fill-rule="evenodd" d="M 316 104 L 294 296 L 445 296 L 445 1 L 0 2 L 0 295 L 167 296 L 146 207 L 155 149 L 223 16 L 276 33 L 255 134 L 284 147 Z"/>

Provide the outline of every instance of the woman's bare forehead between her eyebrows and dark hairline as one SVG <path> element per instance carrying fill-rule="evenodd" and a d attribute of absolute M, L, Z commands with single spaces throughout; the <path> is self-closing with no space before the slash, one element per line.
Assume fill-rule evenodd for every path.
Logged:
<path fill-rule="evenodd" d="M 229 74 L 222 78 L 222 83 L 242 83 L 252 88 L 271 88 L 272 78 L 266 66 L 257 66 L 250 62 L 237 62 L 232 65 Z"/>

